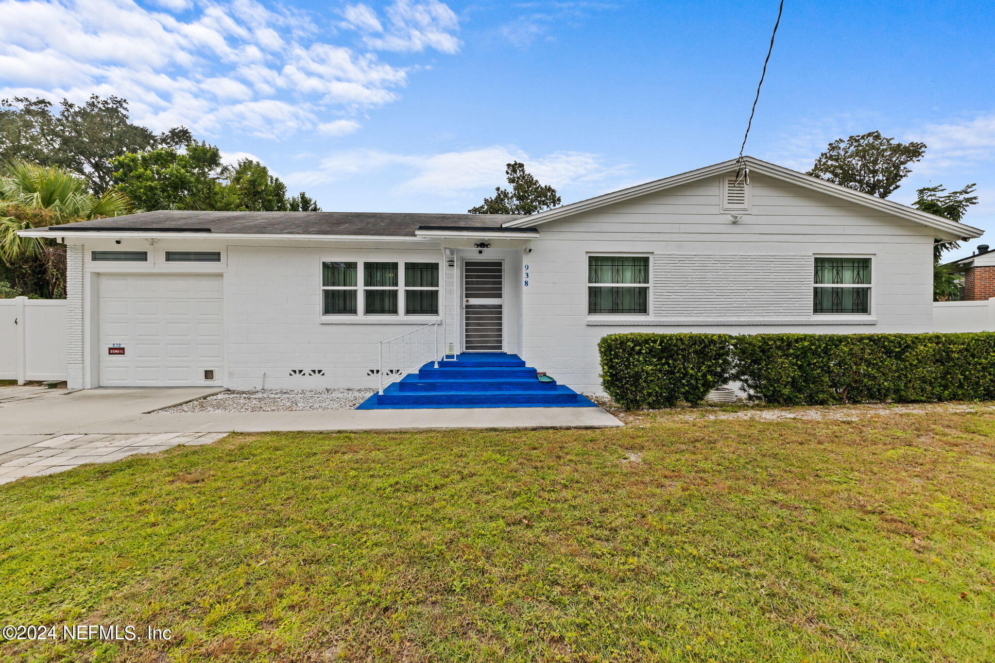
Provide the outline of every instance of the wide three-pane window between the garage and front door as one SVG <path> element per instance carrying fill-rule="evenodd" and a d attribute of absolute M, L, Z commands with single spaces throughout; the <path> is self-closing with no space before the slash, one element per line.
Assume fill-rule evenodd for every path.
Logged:
<path fill-rule="evenodd" d="M 324 315 L 438 315 L 438 262 L 322 262 Z"/>

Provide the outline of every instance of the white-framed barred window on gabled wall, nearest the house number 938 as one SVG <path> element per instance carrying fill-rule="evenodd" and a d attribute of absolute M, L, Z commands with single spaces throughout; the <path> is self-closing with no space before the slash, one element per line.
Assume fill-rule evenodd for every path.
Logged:
<path fill-rule="evenodd" d="M 648 255 L 588 255 L 589 314 L 646 315 L 649 293 Z"/>

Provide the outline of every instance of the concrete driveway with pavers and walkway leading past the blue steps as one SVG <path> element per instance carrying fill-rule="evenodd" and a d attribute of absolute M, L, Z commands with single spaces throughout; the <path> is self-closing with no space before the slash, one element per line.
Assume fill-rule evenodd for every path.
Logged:
<path fill-rule="evenodd" d="M 10 390 L 10 391 L 8 391 Z M 20 391 L 16 391 L 20 390 Z M 33 391 L 32 391 L 33 390 Z M 622 422 L 600 408 L 312 410 L 156 413 L 218 389 L 0 388 L 0 483 L 110 462 L 177 444 L 207 444 L 238 430 L 603 428 Z"/>

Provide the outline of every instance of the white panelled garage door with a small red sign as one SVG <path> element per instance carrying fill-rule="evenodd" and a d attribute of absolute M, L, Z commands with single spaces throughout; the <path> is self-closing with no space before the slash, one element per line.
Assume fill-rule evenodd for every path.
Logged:
<path fill-rule="evenodd" d="M 220 385 L 221 301 L 220 275 L 100 274 L 100 386 Z"/>

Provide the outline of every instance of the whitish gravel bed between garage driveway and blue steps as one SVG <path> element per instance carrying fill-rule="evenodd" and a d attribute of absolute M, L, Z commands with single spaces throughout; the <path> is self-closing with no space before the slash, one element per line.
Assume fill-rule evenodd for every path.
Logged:
<path fill-rule="evenodd" d="M 353 410 L 372 389 L 268 389 L 222 392 L 160 410 L 160 413 L 288 413 L 303 410 Z"/>

